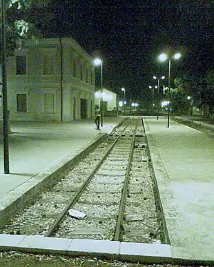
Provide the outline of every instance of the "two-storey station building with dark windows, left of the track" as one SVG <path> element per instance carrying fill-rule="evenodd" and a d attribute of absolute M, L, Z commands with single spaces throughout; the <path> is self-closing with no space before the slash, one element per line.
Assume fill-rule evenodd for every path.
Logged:
<path fill-rule="evenodd" d="M 71 121 L 94 116 L 93 58 L 72 38 L 26 41 L 8 59 L 11 121 Z"/>

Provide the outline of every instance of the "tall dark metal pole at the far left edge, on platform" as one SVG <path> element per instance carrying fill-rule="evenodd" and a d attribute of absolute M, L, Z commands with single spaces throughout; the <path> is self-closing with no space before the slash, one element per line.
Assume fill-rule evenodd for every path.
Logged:
<path fill-rule="evenodd" d="M 1 0 L 1 48 L 2 48 L 2 96 L 3 96 L 3 164 L 4 173 L 9 170 L 9 144 L 8 144 L 8 98 L 7 98 L 7 72 L 6 72 L 6 6 Z"/>

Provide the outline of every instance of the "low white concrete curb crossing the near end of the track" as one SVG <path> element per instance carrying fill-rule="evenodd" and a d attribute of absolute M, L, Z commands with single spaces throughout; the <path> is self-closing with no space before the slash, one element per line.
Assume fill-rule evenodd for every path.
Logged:
<path fill-rule="evenodd" d="M 126 243 L 110 240 L 63 239 L 43 236 L 0 235 L 0 251 L 52 253 L 70 256 L 104 257 L 145 263 L 173 263 L 171 246 Z"/>

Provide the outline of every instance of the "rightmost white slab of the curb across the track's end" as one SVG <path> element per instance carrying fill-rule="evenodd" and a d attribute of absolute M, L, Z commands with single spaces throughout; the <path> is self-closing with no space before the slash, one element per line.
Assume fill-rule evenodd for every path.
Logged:
<path fill-rule="evenodd" d="M 172 263 L 169 245 L 121 242 L 119 255 L 125 261 Z"/>

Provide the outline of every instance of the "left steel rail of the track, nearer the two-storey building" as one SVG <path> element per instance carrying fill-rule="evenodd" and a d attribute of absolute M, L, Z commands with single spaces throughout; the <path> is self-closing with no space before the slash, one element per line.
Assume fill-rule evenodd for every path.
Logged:
<path fill-rule="evenodd" d="M 115 144 L 117 143 L 118 139 L 121 137 L 121 135 L 124 132 L 124 130 L 126 130 L 126 128 L 130 125 L 130 122 L 121 131 L 120 135 L 117 136 L 117 138 L 115 139 L 115 141 L 113 142 L 113 144 L 110 146 L 110 148 L 108 149 L 108 151 L 106 152 L 106 154 L 104 155 L 104 157 L 102 157 L 102 159 L 99 161 L 99 163 L 97 164 L 97 166 L 95 166 L 95 168 L 93 168 L 93 170 L 90 172 L 90 174 L 88 175 L 86 181 L 84 181 L 84 184 L 81 186 L 81 188 L 79 189 L 79 191 L 77 192 L 77 194 L 75 195 L 75 197 L 72 197 L 72 199 L 70 199 L 70 201 L 68 202 L 68 204 L 66 205 L 66 207 L 64 208 L 64 210 L 61 212 L 61 214 L 59 215 L 59 217 L 57 219 L 55 219 L 55 221 L 53 222 L 52 226 L 49 228 L 48 232 L 44 235 L 45 237 L 51 237 L 53 235 L 53 233 L 55 233 L 57 227 L 60 224 L 61 219 L 66 215 L 66 213 L 68 212 L 68 210 L 70 209 L 70 207 L 73 206 L 73 205 L 75 205 L 75 203 L 78 201 L 79 197 L 81 197 L 82 193 L 86 189 L 86 186 L 88 186 L 88 184 L 90 183 L 91 179 L 93 178 L 93 176 L 95 175 L 95 173 L 97 172 L 97 170 L 99 169 L 99 167 L 101 166 L 101 164 L 103 164 L 103 162 L 106 159 L 106 157 L 108 157 L 110 151 L 113 150 Z"/>

